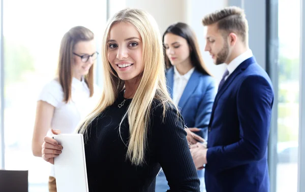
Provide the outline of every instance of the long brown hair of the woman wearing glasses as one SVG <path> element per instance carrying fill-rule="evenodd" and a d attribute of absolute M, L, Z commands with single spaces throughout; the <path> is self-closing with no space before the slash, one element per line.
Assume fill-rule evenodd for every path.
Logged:
<path fill-rule="evenodd" d="M 65 33 L 62 42 L 60 42 L 59 60 L 58 60 L 58 79 L 64 91 L 64 102 L 68 103 L 71 99 L 72 86 L 72 63 L 74 46 L 80 41 L 91 41 L 94 39 L 94 33 L 83 26 L 76 26 Z M 90 90 L 90 97 L 93 96 L 93 67 L 84 77 L 85 83 Z"/>

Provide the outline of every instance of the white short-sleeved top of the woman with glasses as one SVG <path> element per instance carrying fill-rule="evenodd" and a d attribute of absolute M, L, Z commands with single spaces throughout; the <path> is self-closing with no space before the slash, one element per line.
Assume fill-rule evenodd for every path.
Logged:
<path fill-rule="evenodd" d="M 94 95 L 89 97 L 90 90 L 84 78 L 82 81 L 73 78 L 71 100 L 65 103 L 62 86 L 57 80 L 52 80 L 43 87 L 38 101 L 45 101 L 55 107 L 51 122 L 52 129 L 60 129 L 62 133 L 73 133 L 80 121 L 98 104 L 100 93 L 99 87 L 95 85 Z M 52 135 L 51 130 L 47 135 Z M 50 176 L 55 177 L 53 165 Z"/>

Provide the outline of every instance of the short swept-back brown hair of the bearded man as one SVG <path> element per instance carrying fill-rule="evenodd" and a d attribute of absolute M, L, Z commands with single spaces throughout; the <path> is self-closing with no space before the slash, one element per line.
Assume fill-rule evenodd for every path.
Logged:
<path fill-rule="evenodd" d="M 227 7 L 214 13 L 206 15 L 202 19 L 204 26 L 217 23 L 218 29 L 227 35 L 234 32 L 241 36 L 242 42 L 248 44 L 248 21 L 242 9 L 238 7 Z"/>

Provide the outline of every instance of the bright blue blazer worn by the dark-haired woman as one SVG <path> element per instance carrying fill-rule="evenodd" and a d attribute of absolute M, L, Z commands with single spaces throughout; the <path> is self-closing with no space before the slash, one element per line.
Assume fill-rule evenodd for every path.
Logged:
<path fill-rule="evenodd" d="M 173 67 L 167 70 L 166 79 L 168 91 L 172 98 L 174 85 Z M 201 129 L 196 134 L 204 139 L 207 139 L 207 127 L 216 92 L 214 78 L 195 69 L 178 103 L 178 108 L 186 126 Z"/>

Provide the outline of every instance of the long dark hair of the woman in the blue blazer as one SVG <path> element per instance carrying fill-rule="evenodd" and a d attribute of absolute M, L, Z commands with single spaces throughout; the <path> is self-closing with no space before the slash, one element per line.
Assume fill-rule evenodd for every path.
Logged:
<path fill-rule="evenodd" d="M 170 25 L 166 31 L 163 34 L 162 41 L 164 44 L 164 36 L 167 33 L 172 33 L 178 36 L 181 36 L 182 38 L 186 39 L 189 46 L 190 46 L 190 57 L 191 57 L 191 63 L 195 66 L 195 68 L 200 71 L 203 74 L 208 74 L 211 76 L 211 73 L 207 69 L 205 63 L 203 62 L 202 56 L 200 54 L 199 45 L 197 41 L 197 37 L 194 33 L 194 31 L 191 29 L 191 27 L 186 23 L 174 23 Z M 165 51 L 165 49 L 164 49 Z M 164 53 L 165 56 L 165 65 L 166 68 L 172 67 L 172 64 L 170 63 L 167 55 Z"/>

